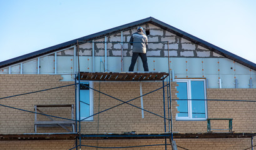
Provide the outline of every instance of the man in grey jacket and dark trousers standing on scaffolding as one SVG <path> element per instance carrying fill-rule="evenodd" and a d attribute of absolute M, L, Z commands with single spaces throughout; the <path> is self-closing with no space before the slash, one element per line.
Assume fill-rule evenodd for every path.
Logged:
<path fill-rule="evenodd" d="M 133 71 L 138 56 L 141 58 L 144 71 L 148 71 L 148 63 L 146 59 L 148 37 L 143 33 L 143 27 L 138 27 L 137 32 L 131 35 L 130 44 L 133 46 L 133 56 L 131 58 L 129 71 Z"/>

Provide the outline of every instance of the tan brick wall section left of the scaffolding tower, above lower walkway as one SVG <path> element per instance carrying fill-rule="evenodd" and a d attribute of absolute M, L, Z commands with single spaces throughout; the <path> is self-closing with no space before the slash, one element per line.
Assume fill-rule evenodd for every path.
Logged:
<path fill-rule="evenodd" d="M 60 82 L 59 79 L 61 79 L 61 76 L 1 74 L 0 98 L 73 84 L 73 82 Z M 34 105 L 36 104 L 74 104 L 74 86 L 1 99 L 0 104 L 28 111 L 34 111 Z M 69 109 L 66 109 L 67 111 L 51 109 L 50 112 L 47 111 L 48 109 L 41 110 L 54 116 L 71 118 Z M 68 111 L 70 115 L 66 116 L 66 114 L 69 114 Z M 40 117 L 45 118 L 44 116 Z M 1 106 L 0 119 L 1 134 L 34 133 L 33 113 Z M 61 128 L 46 128 L 47 131 L 43 128 L 38 129 L 39 133 L 65 132 Z"/>

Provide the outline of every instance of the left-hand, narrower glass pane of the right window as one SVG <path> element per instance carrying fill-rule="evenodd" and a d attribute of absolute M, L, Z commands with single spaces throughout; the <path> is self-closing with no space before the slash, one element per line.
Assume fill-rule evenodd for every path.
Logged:
<path fill-rule="evenodd" d="M 177 90 L 178 90 L 178 98 L 179 99 L 188 99 L 188 91 L 187 91 L 187 83 L 177 83 Z M 180 100 L 178 103 L 178 117 L 188 117 L 188 101 L 187 100 Z"/>

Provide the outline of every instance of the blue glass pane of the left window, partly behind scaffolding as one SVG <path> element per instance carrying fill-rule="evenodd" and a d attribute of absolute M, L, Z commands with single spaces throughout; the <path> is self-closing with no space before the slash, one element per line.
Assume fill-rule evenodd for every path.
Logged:
<path fill-rule="evenodd" d="M 81 118 L 90 116 L 90 89 L 89 84 L 81 83 L 80 86 L 80 115 Z"/>

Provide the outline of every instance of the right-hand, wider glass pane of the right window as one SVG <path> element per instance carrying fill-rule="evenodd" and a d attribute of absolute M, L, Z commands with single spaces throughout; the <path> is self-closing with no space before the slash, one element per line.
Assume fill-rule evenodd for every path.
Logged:
<path fill-rule="evenodd" d="M 203 81 L 191 81 L 192 99 L 203 99 L 203 101 L 192 101 L 192 118 L 205 118 L 205 88 Z"/>

